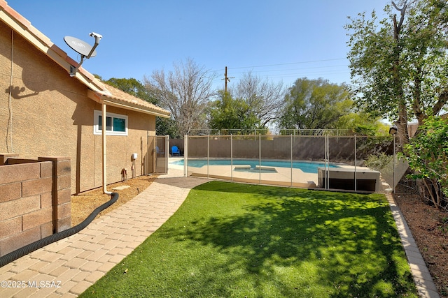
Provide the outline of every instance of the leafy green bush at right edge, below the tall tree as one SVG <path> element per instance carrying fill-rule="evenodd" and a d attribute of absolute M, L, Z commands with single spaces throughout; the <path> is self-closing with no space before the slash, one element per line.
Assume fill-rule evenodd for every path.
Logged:
<path fill-rule="evenodd" d="M 429 117 L 421 132 L 405 145 L 412 177 L 421 179 L 425 193 L 437 208 L 447 208 L 448 200 L 448 124 L 440 117 Z"/>

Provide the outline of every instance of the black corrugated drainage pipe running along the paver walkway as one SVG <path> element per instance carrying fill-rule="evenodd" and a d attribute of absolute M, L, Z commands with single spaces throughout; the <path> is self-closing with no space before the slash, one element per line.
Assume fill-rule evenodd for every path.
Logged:
<path fill-rule="evenodd" d="M 77 232 L 80 232 L 80 230 L 83 230 L 89 223 L 92 223 L 95 217 L 99 214 L 99 212 L 103 211 L 107 207 L 111 206 L 111 204 L 117 202 L 118 200 L 118 193 L 111 193 L 111 200 L 108 202 L 105 202 L 101 206 L 97 207 L 97 209 L 94 209 L 94 211 L 85 218 L 85 220 L 75 225 L 73 228 L 69 228 L 67 230 L 57 232 L 55 234 L 52 234 L 48 237 L 42 238 L 38 241 L 35 241 L 33 243 L 27 244 L 26 246 L 23 246 L 22 248 L 19 248 L 15 251 L 11 251 L 10 253 L 7 253 L 6 255 L 3 255 L 0 257 L 0 268 L 9 264 L 10 262 L 13 262 L 14 260 L 17 260 L 18 258 L 22 258 L 24 255 L 27 255 L 28 253 L 32 253 L 33 251 L 38 250 L 39 248 L 42 248 L 43 246 L 47 246 L 48 244 L 52 244 L 53 242 L 59 241 L 60 239 L 64 239 L 66 237 L 69 237 L 73 234 L 76 234 Z"/>

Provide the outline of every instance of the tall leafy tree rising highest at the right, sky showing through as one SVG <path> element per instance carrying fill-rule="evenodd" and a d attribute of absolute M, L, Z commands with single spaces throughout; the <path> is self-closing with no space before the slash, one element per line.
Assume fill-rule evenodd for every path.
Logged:
<path fill-rule="evenodd" d="M 345 27 L 356 103 L 394 121 L 402 146 L 409 119 L 422 124 L 448 101 L 447 7 L 444 0 L 392 1 L 388 18 L 361 13 Z"/>

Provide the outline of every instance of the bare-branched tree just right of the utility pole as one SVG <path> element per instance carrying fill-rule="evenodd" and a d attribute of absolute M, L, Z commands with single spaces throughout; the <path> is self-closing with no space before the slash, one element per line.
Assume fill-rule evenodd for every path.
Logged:
<path fill-rule="evenodd" d="M 264 128 L 276 119 L 285 89 L 282 82 L 262 80 L 249 72 L 244 73 L 235 89 L 230 89 L 230 94 L 232 98 L 244 100 L 248 112 L 260 119 L 260 127 Z"/>

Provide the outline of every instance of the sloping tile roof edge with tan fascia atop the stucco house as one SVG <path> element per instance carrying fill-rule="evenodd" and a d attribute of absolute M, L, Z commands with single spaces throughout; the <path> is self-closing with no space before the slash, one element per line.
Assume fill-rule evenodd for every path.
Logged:
<path fill-rule="evenodd" d="M 19 33 L 23 38 L 27 39 L 38 50 L 41 50 L 50 59 L 55 61 L 59 66 L 66 69 L 67 75 L 70 66 L 78 66 L 78 62 L 71 59 L 66 52 L 57 47 L 52 41 L 45 36 L 41 31 L 38 31 L 31 25 L 31 22 L 13 10 L 5 0 L 0 0 L 0 20 L 5 22 L 15 32 Z M 124 91 L 116 89 L 104 84 L 98 80 L 92 73 L 89 73 L 82 66 L 78 69 L 75 77 L 80 80 L 87 88 L 91 90 L 89 96 L 98 102 L 105 102 L 106 104 L 118 105 L 129 110 L 138 110 L 147 114 L 155 114 L 160 117 L 169 117 L 170 113 L 167 110 L 148 103 L 145 100 L 127 94 Z"/>

